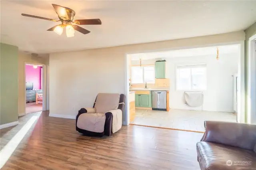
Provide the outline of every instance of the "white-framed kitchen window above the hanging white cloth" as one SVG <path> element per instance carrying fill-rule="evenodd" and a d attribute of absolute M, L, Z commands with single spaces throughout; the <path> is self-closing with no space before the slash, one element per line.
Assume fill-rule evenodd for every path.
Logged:
<path fill-rule="evenodd" d="M 176 90 L 206 90 L 206 64 L 176 65 Z"/>

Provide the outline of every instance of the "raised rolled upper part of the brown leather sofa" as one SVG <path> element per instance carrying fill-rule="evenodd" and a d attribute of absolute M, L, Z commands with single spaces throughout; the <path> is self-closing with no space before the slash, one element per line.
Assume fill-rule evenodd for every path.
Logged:
<path fill-rule="evenodd" d="M 256 149 L 256 125 L 245 123 L 204 121 L 201 141 L 216 142 L 244 149 Z"/>

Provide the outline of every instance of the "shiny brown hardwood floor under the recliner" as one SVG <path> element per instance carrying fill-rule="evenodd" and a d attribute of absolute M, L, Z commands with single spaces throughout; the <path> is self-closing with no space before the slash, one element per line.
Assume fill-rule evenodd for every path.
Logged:
<path fill-rule="evenodd" d="M 2 170 L 199 170 L 201 137 L 135 125 L 112 136 L 89 137 L 75 130 L 75 120 L 42 112 Z"/>

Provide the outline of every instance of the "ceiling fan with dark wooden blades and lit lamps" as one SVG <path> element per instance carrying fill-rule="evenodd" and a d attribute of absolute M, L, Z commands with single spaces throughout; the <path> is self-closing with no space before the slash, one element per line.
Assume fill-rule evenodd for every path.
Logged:
<path fill-rule="evenodd" d="M 47 31 L 54 31 L 57 34 L 61 35 L 64 28 L 66 28 L 66 35 L 67 37 L 74 37 L 75 30 L 78 32 L 81 32 L 82 34 L 88 34 L 90 31 L 78 26 L 78 25 L 101 25 L 101 20 L 100 19 L 85 19 L 85 20 L 74 20 L 75 12 L 74 10 L 70 8 L 66 8 L 63 6 L 59 6 L 56 4 L 52 4 L 54 10 L 56 11 L 59 20 L 54 20 L 50 18 L 44 18 L 40 16 L 34 16 L 34 15 L 28 15 L 28 14 L 21 14 L 22 16 L 28 16 L 32 18 L 38 18 L 42 20 L 49 20 L 49 21 L 54 21 L 58 22 L 61 21 L 61 24 L 56 25 Z M 76 24 L 76 25 L 74 25 Z"/>

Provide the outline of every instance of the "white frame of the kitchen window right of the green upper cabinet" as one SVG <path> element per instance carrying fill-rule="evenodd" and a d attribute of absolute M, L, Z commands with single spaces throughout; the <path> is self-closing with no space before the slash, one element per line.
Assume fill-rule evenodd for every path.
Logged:
<path fill-rule="evenodd" d="M 178 89 L 178 69 L 179 67 L 189 68 L 193 66 L 205 65 L 206 68 L 206 89 L 193 89 L 193 77 L 192 77 L 192 68 L 190 68 L 190 89 Z M 194 67 L 196 68 L 196 67 Z M 175 90 L 176 91 L 206 91 L 207 90 L 207 64 L 206 63 L 193 63 L 193 64 L 175 64 Z"/>

